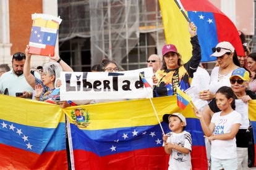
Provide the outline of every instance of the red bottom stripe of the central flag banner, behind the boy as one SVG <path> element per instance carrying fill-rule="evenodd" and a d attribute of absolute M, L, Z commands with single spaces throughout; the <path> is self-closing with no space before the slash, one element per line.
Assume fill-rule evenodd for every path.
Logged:
<path fill-rule="evenodd" d="M 205 147 L 194 146 L 192 169 L 207 169 Z M 168 169 L 169 155 L 163 147 L 135 150 L 108 156 L 97 156 L 85 150 L 74 150 L 75 169 Z"/>

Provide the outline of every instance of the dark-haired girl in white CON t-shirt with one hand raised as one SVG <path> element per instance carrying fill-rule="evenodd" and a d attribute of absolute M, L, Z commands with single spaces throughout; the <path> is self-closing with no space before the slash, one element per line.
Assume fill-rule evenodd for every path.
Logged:
<path fill-rule="evenodd" d="M 236 95 L 231 87 L 223 86 L 216 92 L 216 103 L 220 112 L 214 113 L 207 126 L 202 113 L 194 108 L 205 137 L 211 142 L 211 169 L 237 169 L 236 134 L 242 117 L 235 110 Z"/>

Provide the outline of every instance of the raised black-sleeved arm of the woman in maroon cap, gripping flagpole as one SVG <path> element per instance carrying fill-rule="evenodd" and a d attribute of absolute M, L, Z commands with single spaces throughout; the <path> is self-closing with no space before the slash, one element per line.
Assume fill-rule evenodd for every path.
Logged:
<path fill-rule="evenodd" d="M 184 64 L 184 67 L 189 73 L 190 78 L 193 78 L 193 73 L 197 71 L 197 67 L 202 59 L 201 47 L 197 36 L 197 27 L 193 22 L 191 22 L 189 25 L 189 33 L 191 36 L 190 42 L 192 44 L 192 57 L 189 62 Z"/>

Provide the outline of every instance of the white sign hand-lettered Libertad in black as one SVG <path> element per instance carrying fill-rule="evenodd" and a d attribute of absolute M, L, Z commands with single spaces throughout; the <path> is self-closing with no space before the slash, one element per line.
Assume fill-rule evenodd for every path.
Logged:
<path fill-rule="evenodd" d="M 61 100 L 140 99 L 153 97 L 153 69 L 119 72 L 61 72 Z"/>

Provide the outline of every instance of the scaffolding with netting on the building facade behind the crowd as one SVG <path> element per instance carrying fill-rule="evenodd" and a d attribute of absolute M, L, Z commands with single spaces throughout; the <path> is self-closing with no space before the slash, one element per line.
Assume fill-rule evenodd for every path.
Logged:
<path fill-rule="evenodd" d="M 130 70 L 131 64 L 137 68 L 146 66 L 148 48 L 161 51 L 158 47 L 164 42 L 164 33 L 158 0 L 59 0 L 58 5 L 63 19 L 60 47 L 74 38 L 89 38 L 90 65 L 109 59 Z M 84 57 L 74 52 L 70 55 L 78 61 Z M 84 66 L 75 60 L 70 65 Z"/>

